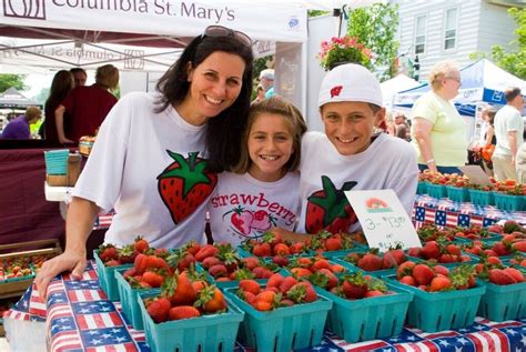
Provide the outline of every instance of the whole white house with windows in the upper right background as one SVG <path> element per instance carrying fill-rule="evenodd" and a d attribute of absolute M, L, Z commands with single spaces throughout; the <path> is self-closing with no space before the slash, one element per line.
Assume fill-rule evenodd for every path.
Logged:
<path fill-rule="evenodd" d="M 418 79 L 427 80 L 429 69 L 446 59 L 459 68 L 474 60 L 475 52 L 490 53 L 495 44 L 508 47 L 516 39 L 512 7 L 524 8 L 523 0 L 406 1 L 398 4 L 399 56 L 414 62 L 418 58 Z"/>

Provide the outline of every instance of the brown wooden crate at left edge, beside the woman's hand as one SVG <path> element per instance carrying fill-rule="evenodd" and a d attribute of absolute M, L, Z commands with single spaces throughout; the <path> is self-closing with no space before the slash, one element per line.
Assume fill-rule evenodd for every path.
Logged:
<path fill-rule="evenodd" d="M 28 248 L 39 248 L 37 250 L 24 250 Z M 9 252 L 17 250 L 16 252 Z M 59 240 L 28 241 L 12 244 L 0 245 L 0 262 L 8 259 L 23 258 L 26 255 L 50 255 L 55 257 L 62 253 Z M 22 280 L 10 280 L 0 282 L 0 299 L 22 295 L 33 283 L 33 278 Z"/>

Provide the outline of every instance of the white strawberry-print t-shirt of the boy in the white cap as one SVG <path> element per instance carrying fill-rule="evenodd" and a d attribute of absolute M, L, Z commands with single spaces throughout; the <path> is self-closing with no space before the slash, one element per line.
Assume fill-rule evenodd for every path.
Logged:
<path fill-rule="evenodd" d="M 365 151 L 342 155 L 324 133 L 307 132 L 302 141 L 300 172 L 297 230 L 307 233 L 327 228 L 360 229 L 343 193 L 348 190 L 392 189 L 411 214 L 418 183 L 415 150 L 386 133 L 377 135 Z"/>

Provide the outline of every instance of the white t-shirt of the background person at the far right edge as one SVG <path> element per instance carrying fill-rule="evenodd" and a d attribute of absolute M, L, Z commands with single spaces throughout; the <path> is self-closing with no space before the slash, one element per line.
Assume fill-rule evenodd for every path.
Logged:
<path fill-rule="evenodd" d="M 508 132 L 516 131 L 517 148 L 523 144 L 524 121 L 520 112 L 512 107 L 504 105 L 495 114 L 495 137 L 497 138 L 497 145 L 495 145 L 494 155 L 512 157 L 512 148 L 509 145 Z"/>

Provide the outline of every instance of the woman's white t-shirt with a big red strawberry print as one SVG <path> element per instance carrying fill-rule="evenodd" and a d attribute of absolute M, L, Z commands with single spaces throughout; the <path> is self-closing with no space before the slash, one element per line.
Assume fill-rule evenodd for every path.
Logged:
<path fill-rule="evenodd" d="M 190 187 L 195 184 L 188 172 L 179 179 L 175 175 L 158 180 L 158 177 L 169 165 L 178 164 L 169 151 L 185 159 L 190 152 L 201 155 L 206 128 L 189 124 L 172 107 L 155 113 L 156 97 L 156 93 L 134 92 L 115 104 L 101 125 L 74 188 L 73 195 L 91 200 L 103 210 L 115 210 L 105 234 L 107 243 L 129 244 L 136 235 L 144 237 L 155 248 L 204 241 L 205 205 L 216 175 L 212 180 L 201 178 L 200 182 L 209 182 L 204 189 L 210 192 L 199 197 L 192 193 L 195 187 Z M 182 184 L 186 184 L 186 190 L 182 190 Z M 185 200 L 179 201 L 176 192 L 186 192 Z M 192 201 L 194 207 L 189 205 Z M 173 209 L 165 202 L 173 202 Z M 193 211 L 185 217 L 184 209 Z"/>

